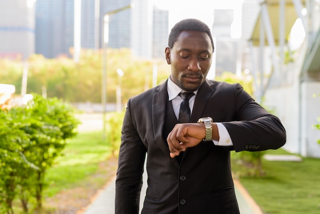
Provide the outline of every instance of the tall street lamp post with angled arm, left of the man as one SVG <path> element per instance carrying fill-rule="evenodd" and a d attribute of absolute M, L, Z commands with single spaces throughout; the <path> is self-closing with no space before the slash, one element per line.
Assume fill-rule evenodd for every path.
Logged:
<path fill-rule="evenodd" d="M 103 114 L 103 140 L 105 139 L 106 129 L 106 105 L 107 105 L 107 48 L 109 43 L 109 22 L 110 16 L 120 11 L 132 8 L 133 5 L 127 5 L 125 7 L 106 12 L 103 15 L 102 20 L 102 82 L 101 82 L 101 102 L 102 102 L 102 114 Z"/>

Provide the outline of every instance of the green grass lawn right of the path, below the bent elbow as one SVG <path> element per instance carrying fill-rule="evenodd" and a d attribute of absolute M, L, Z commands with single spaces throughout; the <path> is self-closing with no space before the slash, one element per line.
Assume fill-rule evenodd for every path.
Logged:
<path fill-rule="evenodd" d="M 288 154 L 283 149 L 266 154 Z M 240 177 L 249 194 L 268 214 L 320 213 L 320 159 L 303 158 L 302 162 L 267 161 L 261 178 Z M 232 161 L 233 171 L 243 166 Z"/>

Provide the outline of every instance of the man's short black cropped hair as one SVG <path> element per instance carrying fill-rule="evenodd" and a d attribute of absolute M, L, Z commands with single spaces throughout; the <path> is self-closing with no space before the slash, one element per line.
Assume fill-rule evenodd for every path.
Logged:
<path fill-rule="evenodd" d="M 176 42 L 176 40 L 178 39 L 178 36 L 182 31 L 200 31 L 200 32 L 207 33 L 208 36 L 210 37 L 212 49 L 214 52 L 213 38 L 211 35 L 210 28 L 208 27 L 208 25 L 204 24 L 203 22 L 195 18 L 183 19 L 173 26 L 169 34 L 169 40 L 168 40 L 169 48 L 173 47 L 174 42 Z"/>

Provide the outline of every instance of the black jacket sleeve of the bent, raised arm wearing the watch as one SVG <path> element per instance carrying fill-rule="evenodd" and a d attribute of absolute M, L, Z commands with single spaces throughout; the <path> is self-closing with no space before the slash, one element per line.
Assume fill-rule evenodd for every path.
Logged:
<path fill-rule="evenodd" d="M 223 122 L 236 152 L 277 149 L 286 142 L 286 131 L 279 118 L 262 108 L 235 84 L 235 121 Z"/>

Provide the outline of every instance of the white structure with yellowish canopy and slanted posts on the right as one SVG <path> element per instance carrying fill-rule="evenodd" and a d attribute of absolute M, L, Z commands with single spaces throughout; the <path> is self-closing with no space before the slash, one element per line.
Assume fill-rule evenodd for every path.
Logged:
<path fill-rule="evenodd" d="M 297 18 L 306 34 L 296 52 L 288 38 Z M 308 23 L 308 24 L 307 24 Z M 260 2 L 248 47 L 253 55 L 258 99 L 274 108 L 287 131 L 284 148 L 306 157 L 320 158 L 320 131 L 312 127 L 320 116 L 320 2 L 318 0 L 265 0 Z M 269 51 L 267 54 L 266 51 Z M 267 66 L 269 65 L 269 66 Z"/>

